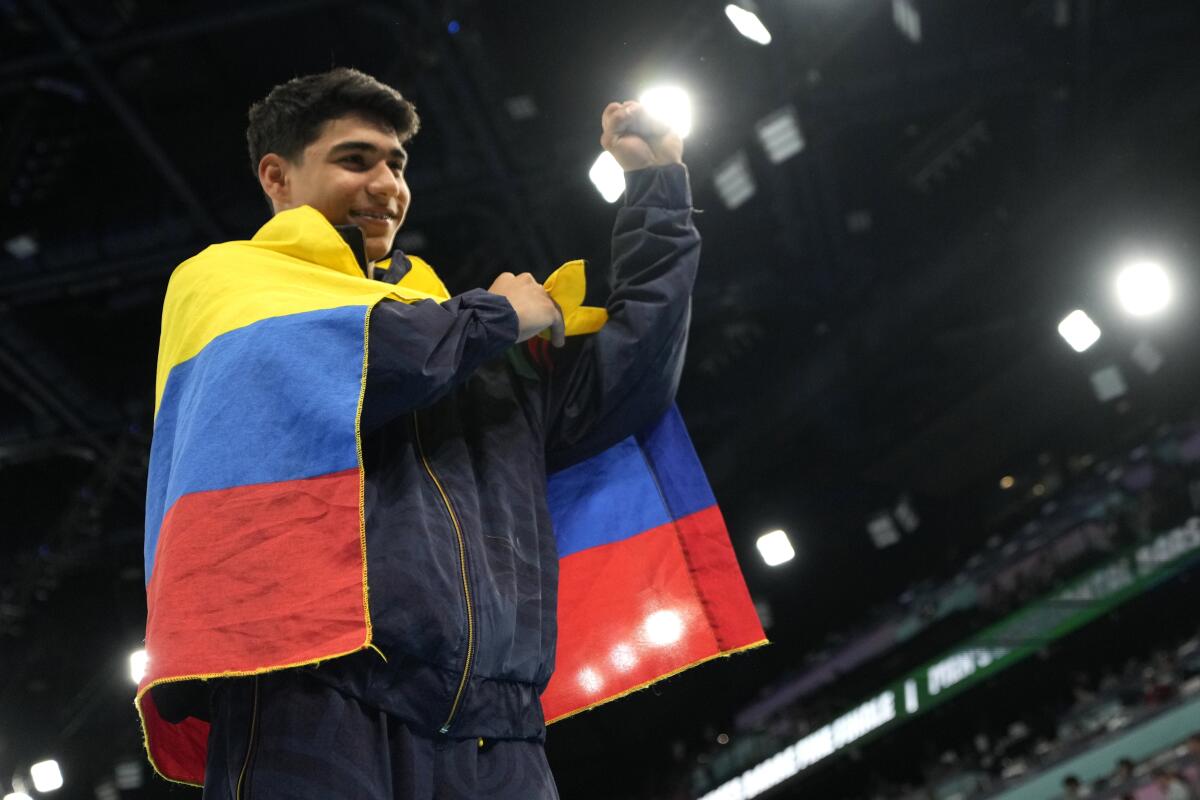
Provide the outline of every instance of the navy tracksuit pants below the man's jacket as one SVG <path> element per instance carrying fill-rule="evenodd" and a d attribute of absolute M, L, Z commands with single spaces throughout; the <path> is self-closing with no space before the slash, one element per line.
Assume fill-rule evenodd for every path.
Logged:
<path fill-rule="evenodd" d="M 288 669 L 215 682 L 204 800 L 557 800 L 541 742 L 430 739 Z"/>

